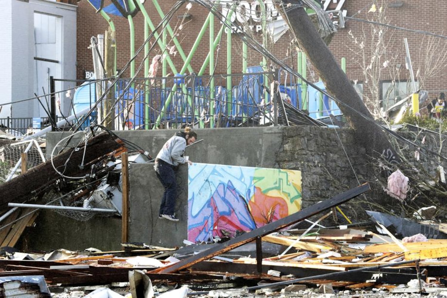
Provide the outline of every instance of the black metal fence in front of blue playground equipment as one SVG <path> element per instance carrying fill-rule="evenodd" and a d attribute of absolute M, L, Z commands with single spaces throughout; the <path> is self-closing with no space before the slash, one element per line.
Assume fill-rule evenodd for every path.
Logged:
<path fill-rule="evenodd" d="M 273 77 L 273 72 L 253 72 L 120 79 L 110 88 L 106 96 L 109 100 L 99 103 L 96 89 L 106 90 L 107 83 L 85 81 L 72 92 L 69 115 L 58 120 L 90 108 L 88 117 L 80 120 L 76 117 L 72 124 L 80 121 L 83 128 L 106 119 L 114 130 L 272 125 L 275 111 L 269 82 Z M 20 135 L 33 127 L 41 129 L 51 124 L 48 117 L 40 118 L 38 125 L 36 121 L 35 118 L 0 118 L 0 129 Z"/>

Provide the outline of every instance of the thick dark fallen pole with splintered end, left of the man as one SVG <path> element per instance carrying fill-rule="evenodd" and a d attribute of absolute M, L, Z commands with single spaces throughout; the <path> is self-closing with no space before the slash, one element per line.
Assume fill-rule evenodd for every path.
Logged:
<path fill-rule="evenodd" d="M 53 158 L 55 168 L 64 169 L 67 176 L 84 176 L 91 171 L 91 168 L 84 166 L 80 168 L 84 160 L 84 165 L 107 155 L 114 150 L 122 148 L 122 141 L 115 140 L 108 133 L 101 133 L 89 139 L 87 146 L 81 144 L 79 147 L 69 149 Z M 85 149 L 85 152 L 84 152 Z M 68 160 L 68 162 L 67 162 Z M 9 202 L 23 202 L 34 197 L 38 189 L 44 189 L 58 179 L 60 175 L 51 165 L 51 160 L 39 164 L 27 172 L 17 176 L 0 185 L 0 210 L 5 209 Z"/>

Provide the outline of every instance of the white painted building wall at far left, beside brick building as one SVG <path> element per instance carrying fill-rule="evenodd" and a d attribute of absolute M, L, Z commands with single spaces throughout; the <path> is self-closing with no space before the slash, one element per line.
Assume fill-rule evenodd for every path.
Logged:
<path fill-rule="evenodd" d="M 45 50 L 45 45 L 40 45 L 39 49 L 35 44 L 34 13 L 57 17 L 60 21 L 61 30 L 57 33 L 61 38 L 59 49 L 51 52 L 50 56 L 54 58 L 42 57 L 60 61 L 57 67 L 50 67 L 50 75 L 58 79 L 76 79 L 76 6 L 51 0 L 0 0 L 0 104 L 34 97 L 34 92 L 43 93 L 42 86 L 37 83 L 37 74 L 46 73 L 51 63 L 34 60 Z M 74 83 L 58 83 L 56 91 L 68 86 L 73 87 Z M 70 101 L 64 96 L 60 100 L 63 113 L 67 114 Z M 38 101 L 33 100 L 3 106 L 0 118 L 8 116 L 46 117 L 46 114 Z"/>

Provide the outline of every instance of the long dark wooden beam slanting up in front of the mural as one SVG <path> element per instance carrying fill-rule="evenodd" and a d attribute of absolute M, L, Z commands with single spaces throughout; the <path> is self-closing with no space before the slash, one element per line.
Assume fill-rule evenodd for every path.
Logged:
<path fill-rule="evenodd" d="M 325 201 L 320 201 L 312 206 L 309 206 L 308 208 L 300 210 L 300 211 L 296 212 L 295 214 L 291 214 L 287 217 L 278 219 L 277 221 L 270 222 L 269 224 L 266 224 L 263 227 L 257 228 L 253 231 L 249 231 L 249 232 L 242 234 L 238 237 L 230 239 L 224 243 L 216 245 L 215 247 L 212 247 L 212 248 L 209 248 L 202 252 L 199 252 L 198 254 L 196 254 L 194 256 L 190 256 L 186 259 L 183 259 L 180 262 L 177 262 L 171 266 L 166 266 L 166 267 L 162 268 L 159 272 L 160 273 L 176 272 L 178 270 L 187 268 L 193 264 L 201 262 L 202 260 L 207 260 L 209 258 L 212 258 L 213 256 L 217 256 L 224 252 L 228 252 L 228 251 L 232 250 L 233 248 L 237 248 L 245 243 L 249 243 L 250 241 L 256 240 L 258 237 L 262 237 L 262 236 L 271 234 L 274 231 L 278 231 L 284 227 L 290 226 L 296 222 L 300 222 L 300 221 L 302 221 L 306 218 L 309 218 L 315 214 L 318 214 L 325 210 L 329 210 L 334 206 L 338 206 L 342 203 L 345 203 L 345 202 L 349 201 L 350 199 L 352 199 L 353 197 L 357 197 L 358 195 L 366 192 L 369 189 L 370 189 L 370 187 L 367 183 L 365 183 L 363 185 L 359 185 L 359 186 L 357 186 L 353 189 L 350 189 L 344 193 L 340 193 L 340 194 L 336 195 L 335 197 L 332 197 Z"/>

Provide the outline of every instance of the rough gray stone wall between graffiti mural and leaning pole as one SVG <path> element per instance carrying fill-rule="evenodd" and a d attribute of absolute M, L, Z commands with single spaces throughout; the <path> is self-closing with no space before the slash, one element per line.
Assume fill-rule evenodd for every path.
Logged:
<path fill-rule="evenodd" d="M 284 127 L 276 163 L 302 171 L 304 207 L 364 183 L 371 172 L 350 129 Z"/>

